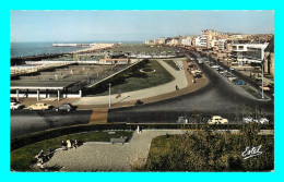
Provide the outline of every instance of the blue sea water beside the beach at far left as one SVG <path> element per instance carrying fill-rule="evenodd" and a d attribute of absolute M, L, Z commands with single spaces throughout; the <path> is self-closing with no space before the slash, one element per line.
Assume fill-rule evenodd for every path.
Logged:
<path fill-rule="evenodd" d="M 11 43 L 10 57 L 26 57 L 43 53 L 67 53 L 85 49 L 82 47 L 52 47 L 52 43 Z"/>

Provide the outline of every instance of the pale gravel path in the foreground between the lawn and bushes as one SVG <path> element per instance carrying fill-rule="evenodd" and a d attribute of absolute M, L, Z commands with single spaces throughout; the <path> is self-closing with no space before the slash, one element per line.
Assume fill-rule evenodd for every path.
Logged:
<path fill-rule="evenodd" d="M 138 161 L 146 161 L 151 142 L 159 135 L 182 134 L 182 130 L 143 130 L 134 132 L 128 144 L 86 143 L 70 150 L 58 150 L 45 163 L 46 167 L 59 166 L 60 171 L 131 171 Z"/>

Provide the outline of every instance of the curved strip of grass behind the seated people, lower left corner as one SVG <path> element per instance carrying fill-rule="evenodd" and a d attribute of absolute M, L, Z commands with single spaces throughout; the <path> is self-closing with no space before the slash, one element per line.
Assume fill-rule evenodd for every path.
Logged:
<path fill-rule="evenodd" d="M 78 133 L 71 135 L 63 135 L 60 137 L 42 141 L 32 145 L 11 151 L 11 169 L 16 171 L 31 171 L 29 165 L 42 149 L 46 153 L 48 147 L 57 149 L 61 147 L 61 142 L 69 139 L 78 139 L 79 142 L 109 142 L 111 137 L 128 136 L 132 137 L 131 131 L 115 131 L 115 134 L 108 134 L 109 131 Z"/>

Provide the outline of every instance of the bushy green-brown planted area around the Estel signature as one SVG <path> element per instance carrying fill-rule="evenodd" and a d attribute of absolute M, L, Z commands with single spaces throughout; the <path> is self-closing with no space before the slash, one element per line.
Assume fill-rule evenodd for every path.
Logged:
<path fill-rule="evenodd" d="M 249 138 L 250 137 L 250 138 Z M 270 171 L 274 168 L 274 136 L 246 134 L 164 135 L 152 141 L 142 171 Z M 247 146 L 262 154 L 244 159 Z"/>

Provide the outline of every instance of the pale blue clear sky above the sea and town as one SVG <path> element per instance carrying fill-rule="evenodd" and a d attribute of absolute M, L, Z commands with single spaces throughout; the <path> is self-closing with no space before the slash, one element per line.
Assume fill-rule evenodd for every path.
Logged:
<path fill-rule="evenodd" d="M 273 11 L 11 11 L 10 40 L 144 41 L 177 35 L 274 34 Z"/>

